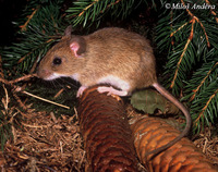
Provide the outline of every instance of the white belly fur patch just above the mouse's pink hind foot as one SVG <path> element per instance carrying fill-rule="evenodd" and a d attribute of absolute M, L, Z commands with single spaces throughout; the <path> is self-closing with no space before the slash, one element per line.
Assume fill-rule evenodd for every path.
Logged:
<path fill-rule="evenodd" d="M 97 84 L 111 84 L 122 90 L 129 90 L 130 89 L 130 84 L 119 77 L 108 75 L 106 77 L 101 77 L 98 79 Z"/>

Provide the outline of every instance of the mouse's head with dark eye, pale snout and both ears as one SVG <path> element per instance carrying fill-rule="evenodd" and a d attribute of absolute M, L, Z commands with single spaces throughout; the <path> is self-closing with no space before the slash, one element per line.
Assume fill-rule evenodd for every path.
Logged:
<path fill-rule="evenodd" d="M 72 76 L 83 62 L 85 51 L 85 39 L 81 36 L 72 36 L 71 27 L 68 27 L 62 39 L 40 61 L 37 75 L 47 81 Z"/>

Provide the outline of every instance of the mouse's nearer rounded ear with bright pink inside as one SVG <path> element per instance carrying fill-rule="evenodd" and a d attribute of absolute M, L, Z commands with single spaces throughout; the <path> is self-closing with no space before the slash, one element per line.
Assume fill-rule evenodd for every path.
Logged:
<path fill-rule="evenodd" d="M 70 49 L 76 58 L 86 51 L 86 41 L 82 36 L 73 36 L 70 40 Z"/>

